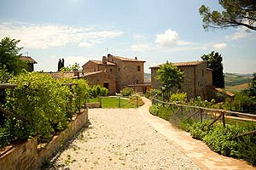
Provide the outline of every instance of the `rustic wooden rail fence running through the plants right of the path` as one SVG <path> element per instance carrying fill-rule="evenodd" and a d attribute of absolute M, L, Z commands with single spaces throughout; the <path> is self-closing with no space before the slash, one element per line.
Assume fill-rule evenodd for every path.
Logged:
<path fill-rule="evenodd" d="M 191 113 L 189 114 L 189 116 L 187 116 L 183 121 L 187 121 L 190 118 L 192 118 L 193 116 L 199 115 L 200 122 L 202 122 L 204 116 L 211 115 L 211 116 L 214 116 L 214 118 L 213 118 L 212 122 L 208 125 L 208 127 L 211 127 L 212 124 L 214 124 L 218 120 L 221 120 L 223 126 L 225 127 L 227 117 L 229 117 L 230 119 L 241 118 L 242 120 L 256 122 L 256 115 L 253 115 L 253 114 L 241 113 L 241 112 L 237 112 L 237 111 L 225 111 L 222 109 L 210 109 L 210 108 L 193 106 L 193 105 L 181 105 L 181 104 L 174 103 L 174 102 L 164 102 L 164 101 L 161 101 L 160 99 L 156 99 L 155 94 L 150 94 L 150 96 L 151 96 L 152 103 L 154 105 L 162 105 L 166 108 L 174 106 L 174 107 L 177 107 L 177 112 L 178 111 L 185 112 L 188 109 L 192 110 Z M 247 132 L 247 133 L 241 133 L 241 134 L 237 135 L 236 138 L 245 136 L 248 134 L 256 134 L 256 130 L 253 130 L 253 131 Z"/>

